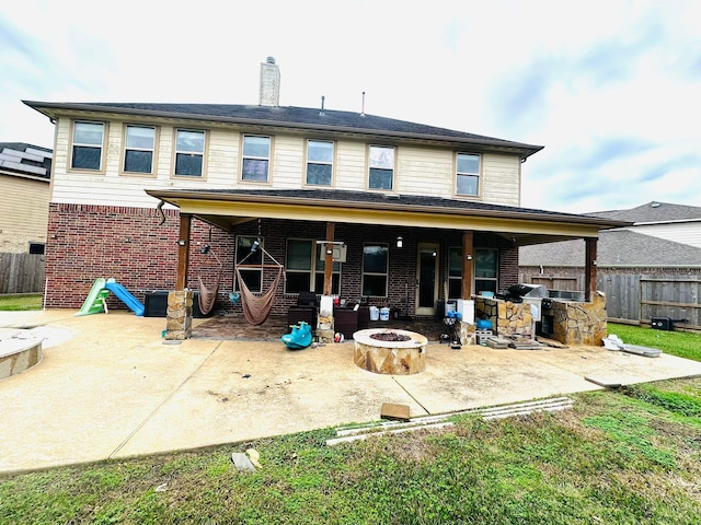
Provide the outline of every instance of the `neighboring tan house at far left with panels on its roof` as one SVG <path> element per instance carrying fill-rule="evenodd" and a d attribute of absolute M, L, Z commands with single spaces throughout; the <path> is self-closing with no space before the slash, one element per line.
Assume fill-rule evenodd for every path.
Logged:
<path fill-rule="evenodd" d="M 0 253 L 44 253 L 50 173 L 51 150 L 0 142 Z"/>

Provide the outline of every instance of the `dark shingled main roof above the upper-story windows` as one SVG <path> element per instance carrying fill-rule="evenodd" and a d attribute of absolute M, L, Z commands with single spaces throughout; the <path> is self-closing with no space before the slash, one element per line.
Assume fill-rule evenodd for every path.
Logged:
<path fill-rule="evenodd" d="M 357 133 L 395 140 L 440 141 L 471 144 L 484 150 L 518 153 L 526 159 L 543 149 L 482 135 L 423 124 L 397 120 L 365 113 L 319 109 L 295 106 L 256 106 L 237 104 L 158 104 L 158 103 L 53 103 L 23 101 L 24 104 L 54 118 L 58 113 L 99 112 L 105 114 L 139 115 L 161 118 L 189 119 L 285 127 L 299 130 L 318 130 L 340 133 Z"/>

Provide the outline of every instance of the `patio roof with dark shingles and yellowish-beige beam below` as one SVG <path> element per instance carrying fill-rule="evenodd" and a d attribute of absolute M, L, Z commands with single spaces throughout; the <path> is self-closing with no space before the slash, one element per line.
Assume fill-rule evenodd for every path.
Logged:
<path fill-rule="evenodd" d="M 628 223 L 440 198 L 326 190 L 146 190 L 205 222 L 232 231 L 253 219 L 483 231 L 517 245 L 598 237 Z"/>

